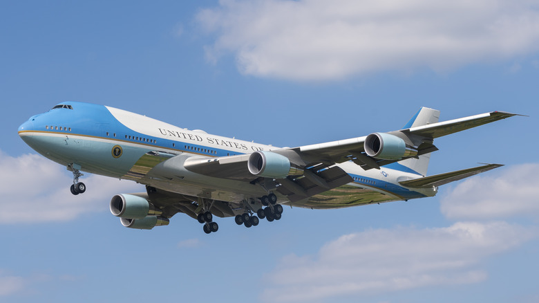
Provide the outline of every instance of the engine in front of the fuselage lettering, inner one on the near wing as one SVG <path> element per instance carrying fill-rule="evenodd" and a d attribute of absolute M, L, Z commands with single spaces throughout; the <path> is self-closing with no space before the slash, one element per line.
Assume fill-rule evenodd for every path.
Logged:
<path fill-rule="evenodd" d="M 298 167 L 290 164 L 287 157 L 274 152 L 254 152 L 247 161 L 249 172 L 265 178 L 285 178 L 286 176 L 303 174 Z"/>

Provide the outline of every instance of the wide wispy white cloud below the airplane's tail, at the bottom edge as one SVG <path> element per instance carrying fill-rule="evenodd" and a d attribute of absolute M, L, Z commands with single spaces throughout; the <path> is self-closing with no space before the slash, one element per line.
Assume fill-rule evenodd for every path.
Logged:
<path fill-rule="evenodd" d="M 504 222 L 448 228 L 396 228 L 344 235 L 315 256 L 283 258 L 267 275 L 267 302 L 331 302 L 423 286 L 471 284 L 487 277 L 481 260 L 514 248 L 533 230 Z"/>

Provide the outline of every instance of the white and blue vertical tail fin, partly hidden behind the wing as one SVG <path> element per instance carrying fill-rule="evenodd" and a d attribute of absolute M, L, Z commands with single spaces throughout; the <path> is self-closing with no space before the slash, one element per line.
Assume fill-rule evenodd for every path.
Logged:
<path fill-rule="evenodd" d="M 422 107 L 415 113 L 415 115 L 404 125 L 403 129 L 409 129 L 412 127 L 419 127 L 423 125 L 429 125 L 438 122 L 439 111 L 436 109 L 429 109 L 428 107 Z M 428 161 L 431 160 L 431 154 L 424 154 L 419 156 L 418 159 L 410 158 L 399 161 L 399 164 L 412 169 L 414 172 L 426 176 L 428 169 Z"/>

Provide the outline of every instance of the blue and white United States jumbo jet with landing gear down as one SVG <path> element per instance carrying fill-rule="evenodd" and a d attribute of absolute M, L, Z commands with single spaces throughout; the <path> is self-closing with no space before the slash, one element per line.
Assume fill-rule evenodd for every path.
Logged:
<path fill-rule="evenodd" d="M 279 148 L 189 130 L 137 113 L 85 102 L 62 102 L 32 116 L 19 136 L 73 172 L 135 181 L 146 192 L 116 194 L 113 215 L 127 228 L 169 225 L 181 212 L 216 232 L 217 217 L 257 226 L 281 219 L 283 205 L 328 209 L 435 196 L 440 185 L 495 169 L 484 164 L 426 176 L 434 139 L 512 116 L 491 111 L 439 122 L 422 107 L 402 129 L 300 147 Z"/>

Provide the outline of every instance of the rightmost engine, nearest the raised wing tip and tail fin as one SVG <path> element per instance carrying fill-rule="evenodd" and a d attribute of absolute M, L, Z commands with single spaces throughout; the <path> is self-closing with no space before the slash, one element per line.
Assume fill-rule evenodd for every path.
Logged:
<path fill-rule="evenodd" d="M 365 139 L 365 152 L 368 156 L 383 160 L 400 160 L 404 157 L 417 156 L 417 149 L 395 135 L 373 133 Z"/>

